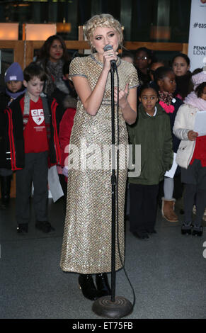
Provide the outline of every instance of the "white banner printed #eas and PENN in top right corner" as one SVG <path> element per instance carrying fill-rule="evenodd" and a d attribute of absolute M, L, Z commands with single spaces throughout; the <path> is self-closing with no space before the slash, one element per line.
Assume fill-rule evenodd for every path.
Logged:
<path fill-rule="evenodd" d="M 188 43 L 190 70 L 203 67 L 206 57 L 206 0 L 192 0 Z"/>

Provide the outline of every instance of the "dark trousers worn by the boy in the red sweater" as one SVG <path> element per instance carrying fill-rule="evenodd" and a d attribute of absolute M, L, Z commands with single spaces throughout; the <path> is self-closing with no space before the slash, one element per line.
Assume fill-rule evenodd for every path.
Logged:
<path fill-rule="evenodd" d="M 30 220 L 30 191 L 33 182 L 33 203 L 35 219 L 47 221 L 47 152 L 25 154 L 25 167 L 16 171 L 16 221 L 28 223 Z"/>

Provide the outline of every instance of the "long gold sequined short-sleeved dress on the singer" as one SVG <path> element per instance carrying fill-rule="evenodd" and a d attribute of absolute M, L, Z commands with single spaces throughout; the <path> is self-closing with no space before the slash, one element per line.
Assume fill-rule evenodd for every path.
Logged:
<path fill-rule="evenodd" d="M 138 86 L 137 71 L 132 64 L 118 58 L 119 86 L 129 89 Z M 93 90 L 103 63 L 96 54 L 76 57 L 70 64 L 69 77 L 86 77 Z M 115 76 L 115 86 L 117 79 Z M 67 213 L 64 225 L 60 267 L 63 271 L 92 274 L 111 271 L 111 145 L 110 73 L 101 107 L 95 116 L 86 113 L 79 100 L 71 131 Z M 120 145 L 128 143 L 125 120 L 119 109 Z M 116 116 L 115 116 L 116 118 Z M 116 136 L 117 133 L 115 133 Z M 109 157 L 108 157 L 109 156 Z M 108 162 L 109 160 L 109 162 Z M 124 262 L 125 232 L 124 205 L 127 168 L 120 154 L 118 179 L 120 254 Z M 116 246 L 115 269 L 122 267 Z"/>

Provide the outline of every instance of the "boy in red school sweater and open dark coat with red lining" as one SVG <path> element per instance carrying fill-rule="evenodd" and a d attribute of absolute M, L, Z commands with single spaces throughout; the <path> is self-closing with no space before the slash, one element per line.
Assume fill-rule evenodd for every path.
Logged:
<path fill-rule="evenodd" d="M 45 72 L 30 64 L 24 69 L 26 93 L 6 108 L 11 147 L 11 168 L 16 170 L 17 232 L 28 232 L 30 219 L 30 186 L 33 182 L 35 227 L 42 232 L 54 230 L 47 218 L 47 173 L 59 162 L 57 137 L 57 102 L 42 94 Z"/>

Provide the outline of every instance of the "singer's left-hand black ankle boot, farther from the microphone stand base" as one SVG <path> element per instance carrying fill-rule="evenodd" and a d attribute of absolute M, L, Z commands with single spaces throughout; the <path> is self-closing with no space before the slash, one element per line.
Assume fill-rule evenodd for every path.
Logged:
<path fill-rule="evenodd" d="M 99 298 L 96 286 L 94 285 L 93 278 L 90 274 L 79 275 L 79 288 L 84 297 L 88 298 L 88 300 L 97 300 Z"/>

